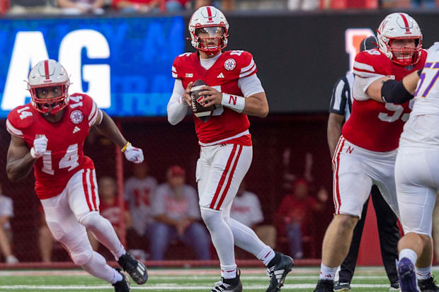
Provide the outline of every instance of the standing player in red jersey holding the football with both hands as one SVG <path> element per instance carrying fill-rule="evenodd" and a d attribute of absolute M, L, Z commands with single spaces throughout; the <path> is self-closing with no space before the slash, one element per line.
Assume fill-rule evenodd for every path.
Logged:
<path fill-rule="evenodd" d="M 229 216 L 253 155 L 247 115 L 268 115 L 256 64 L 249 52 L 222 51 L 227 46 L 229 23 L 213 6 L 193 13 L 189 32 L 197 52 L 181 54 L 173 62 L 172 76 L 176 81 L 168 104 L 168 120 L 171 124 L 181 122 L 188 112 L 193 81 L 205 81 L 208 86 L 200 92 L 205 95 L 201 103 L 215 105 L 215 110 L 207 122 L 193 117 L 201 146 L 196 170 L 201 216 L 221 264 L 222 280 L 212 292 L 242 291 L 234 245 L 261 259 L 270 275 L 267 291 L 280 291 L 293 266 L 291 257 L 274 252 L 251 228 Z"/>

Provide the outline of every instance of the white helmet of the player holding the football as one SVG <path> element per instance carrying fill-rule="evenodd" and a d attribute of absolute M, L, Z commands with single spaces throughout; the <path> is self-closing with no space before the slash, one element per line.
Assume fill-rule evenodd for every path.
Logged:
<path fill-rule="evenodd" d="M 229 23 L 224 14 L 214 6 L 203 6 L 198 8 L 189 21 L 189 33 L 191 43 L 195 49 L 215 54 L 227 46 L 227 37 L 229 37 Z M 199 37 L 200 33 L 208 34 L 208 37 Z M 204 45 L 203 39 L 219 40 L 217 45 Z"/>

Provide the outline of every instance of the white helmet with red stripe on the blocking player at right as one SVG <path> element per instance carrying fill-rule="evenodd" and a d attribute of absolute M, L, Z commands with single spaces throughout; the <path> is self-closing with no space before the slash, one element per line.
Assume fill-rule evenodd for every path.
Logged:
<path fill-rule="evenodd" d="M 392 62 L 402 66 L 416 64 L 421 58 L 422 33 L 418 23 L 406 13 L 392 13 L 386 16 L 377 29 L 378 45 Z M 414 39 L 415 47 L 392 47 L 392 40 Z M 410 58 L 397 58 L 395 52 L 399 54 L 409 53 Z"/>

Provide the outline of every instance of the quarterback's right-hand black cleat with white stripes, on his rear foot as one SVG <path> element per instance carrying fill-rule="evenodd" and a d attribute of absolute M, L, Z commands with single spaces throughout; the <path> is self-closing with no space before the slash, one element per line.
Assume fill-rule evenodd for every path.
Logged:
<path fill-rule="evenodd" d="M 270 277 L 270 286 L 266 292 L 278 292 L 283 286 L 285 277 L 294 267 L 294 261 L 291 257 L 280 252 L 275 252 L 275 257 L 270 261 L 267 268 L 267 275 Z"/>

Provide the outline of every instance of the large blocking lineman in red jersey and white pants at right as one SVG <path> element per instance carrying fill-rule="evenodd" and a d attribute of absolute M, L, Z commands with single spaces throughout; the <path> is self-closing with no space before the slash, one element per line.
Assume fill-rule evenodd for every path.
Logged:
<path fill-rule="evenodd" d="M 333 291 L 333 276 L 348 253 L 372 185 L 399 216 L 394 165 L 413 95 L 393 89 L 404 76 L 423 68 L 427 53 L 418 23 L 406 13 L 384 18 L 377 40 L 379 49 L 355 57 L 352 114 L 332 160 L 335 216 L 323 241 L 317 292 Z"/>

